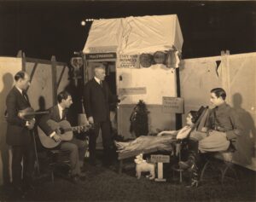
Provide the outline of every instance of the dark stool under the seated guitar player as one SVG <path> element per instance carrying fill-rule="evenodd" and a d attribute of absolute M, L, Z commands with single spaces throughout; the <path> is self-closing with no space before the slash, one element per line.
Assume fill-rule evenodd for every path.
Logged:
<path fill-rule="evenodd" d="M 49 171 L 50 171 L 50 177 L 51 177 L 51 182 L 55 181 L 55 166 L 64 164 L 67 165 L 70 168 L 70 160 L 69 159 L 64 159 L 64 152 L 60 150 L 49 150 L 48 151 L 48 156 L 49 156 Z"/>

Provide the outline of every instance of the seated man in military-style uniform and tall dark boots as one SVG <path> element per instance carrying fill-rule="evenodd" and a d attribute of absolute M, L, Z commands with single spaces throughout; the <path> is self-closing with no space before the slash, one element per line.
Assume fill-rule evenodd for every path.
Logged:
<path fill-rule="evenodd" d="M 183 169 L 192 171 L 190 187 L 198 186 L 199 152 L 221 152 L 235 147 L 236 137 L 242 135 L 243 127 L 235 110 L 225 101 L 224 89 L 211 90 L 212 110 L 209 112 L 205 133 L 194 131 L 189 136 L 189 159 L 180 161 Z"/>

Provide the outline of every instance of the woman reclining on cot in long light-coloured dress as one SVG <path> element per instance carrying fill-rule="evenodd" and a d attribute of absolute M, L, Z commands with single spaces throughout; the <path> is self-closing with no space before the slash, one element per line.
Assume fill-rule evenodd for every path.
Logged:
<path fill-rule="evenodd" d="M 172 151 L 173 142 L 182 140 L 195 130 L 195 123 L 200 118 L 202 110 L 190 111 L 186 118 L 186 125 L 181 130 L 164 130 L 157 136 L 139 136 L 134 141 L 114 141 L 119 153 L 128 153 L 136 150 L 156 148 L 161 151 Z"/>

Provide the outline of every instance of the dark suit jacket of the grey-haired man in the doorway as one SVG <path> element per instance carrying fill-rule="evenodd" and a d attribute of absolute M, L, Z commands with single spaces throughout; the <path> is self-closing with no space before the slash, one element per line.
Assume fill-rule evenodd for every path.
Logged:
<path fill-rule="evenodd" d="M 92 78 L 84 86 L 85 113 L 87 117 L 92 116 L 95 122 L 109 120 L 109 105 L 118 101 L 118 97 L 111 93 L 106 81 L 102 81 L 101 86 Z"/>

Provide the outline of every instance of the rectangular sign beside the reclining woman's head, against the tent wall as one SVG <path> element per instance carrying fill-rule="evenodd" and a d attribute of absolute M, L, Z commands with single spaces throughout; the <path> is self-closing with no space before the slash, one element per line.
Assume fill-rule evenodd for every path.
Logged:
<path fill-rule="evenodd" d="M 163 97 L 163 113 L 184 113 L 184 99 L 182 97 Z"/>

